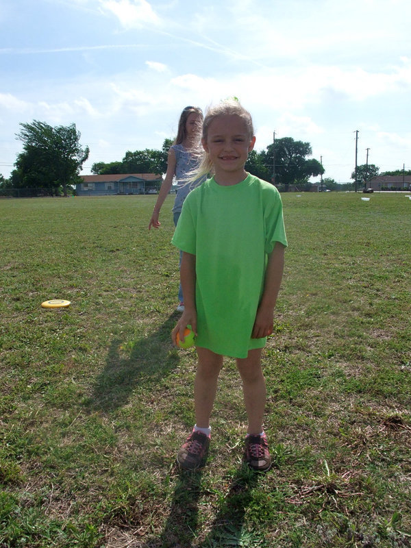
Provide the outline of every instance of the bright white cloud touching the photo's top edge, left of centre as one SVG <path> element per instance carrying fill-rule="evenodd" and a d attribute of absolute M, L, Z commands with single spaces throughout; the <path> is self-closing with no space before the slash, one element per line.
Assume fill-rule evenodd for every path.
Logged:
<path fill-rule="evenodd" d="M 147 0 L 99 0 L 103 10 L 112 12 L 125 29 L 160 25 L 160 18 Z"/>

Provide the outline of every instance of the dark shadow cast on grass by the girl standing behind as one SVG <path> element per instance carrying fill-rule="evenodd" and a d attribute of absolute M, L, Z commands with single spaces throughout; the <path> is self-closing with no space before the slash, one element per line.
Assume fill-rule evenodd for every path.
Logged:
<path fill-rule="evenodd" d="M 149 337 L 137 340 L 127 358 L 120 353 L 123 340 L 112 340 L 105 368 L 95 379 L 86 407 L 107 412 L 121 408 L 138 384 L 155 384 L 170 373 L 179 362 L 171 343 L 177 318 L 178 314 L 171 314 Z"/>

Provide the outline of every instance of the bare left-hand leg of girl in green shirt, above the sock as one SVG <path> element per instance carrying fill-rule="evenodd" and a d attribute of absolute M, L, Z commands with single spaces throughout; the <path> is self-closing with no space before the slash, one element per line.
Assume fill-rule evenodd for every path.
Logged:
<path fill-rule="evenodd" d="M 194 383 L 195 422 L 198 427 L 208 428 L 223 356 L 200 347 L 197 347 L 197 355 L 199 362 Z"/>

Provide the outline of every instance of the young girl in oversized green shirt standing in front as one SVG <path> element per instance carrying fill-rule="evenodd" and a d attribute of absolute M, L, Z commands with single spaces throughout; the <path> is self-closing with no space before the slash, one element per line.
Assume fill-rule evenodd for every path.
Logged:
<path fill-rule="evenodd" d="M 210 444 L 210 416 L 223 356 L 236 358 L 248 428 L 245 460 L 266 471 L 271 456 L 262 427 L 266 388 L 261 366 L 287 245 L 277 189 L 245 171 L 253 149 L 251 116 L 238 101 L 208 110 L 201 139 L 204 155 L 195 177 L 213 173 L 192 190 L 173 244 L 182 252 L 185 310 L 173 330 L 184 340 L 192 326 L 198 355 L 195 427 L 177 454 L 184 469 L 201 466 Z M 193 175 L 194 176 L 194 175 Z"/>

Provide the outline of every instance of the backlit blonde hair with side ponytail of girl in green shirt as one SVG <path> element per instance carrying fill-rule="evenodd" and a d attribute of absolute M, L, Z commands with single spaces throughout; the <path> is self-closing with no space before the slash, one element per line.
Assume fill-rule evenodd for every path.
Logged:
<path fill-rule="evenodd" d="M 203 140 L 207 140 L 208 137 L 208 128 L 212 121 L 214 121 L 219 116 L 230 116 L 236 114 L 239 116 L 245 123 L 249 138 L 254 136 L 254 127 L 253 120 L 251 119 L 251 114 L 246 110 L 237 99 L 226 99 L 221 101 L 214 106 L 211 106 L 207 109 L 206 116 L 203 121 Z M 203 177 L 208 173 L 213 173 L 213 166 L 210 160 L 210 156 L 206 151 L 203 151 L 202 157 L 199 162 L 199 167 L 195 170 L 195 173 L 190 174 L 190 180 L 198 179 Z"/>

